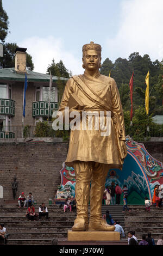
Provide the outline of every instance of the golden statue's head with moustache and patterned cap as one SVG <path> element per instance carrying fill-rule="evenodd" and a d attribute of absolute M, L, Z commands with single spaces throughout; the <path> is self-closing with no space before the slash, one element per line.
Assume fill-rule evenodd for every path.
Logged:
<path fill-rule="evenodd" d="M 83 45 L 83 68 L 87 70 L 98 70 L 101 67 L 101 45 L 90 44 Z"/>

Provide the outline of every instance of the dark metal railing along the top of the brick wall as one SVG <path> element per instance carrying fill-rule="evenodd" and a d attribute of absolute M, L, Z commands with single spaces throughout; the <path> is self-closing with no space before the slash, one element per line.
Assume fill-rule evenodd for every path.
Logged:
<path fill-rule="evenodd" d="M 37 126 L 5 126 L 0 127 L 0 138 L 5 138 L 2 133 L 7 133 L 9 138 L 36 138 L 36 137 L 67 137 L 70 131 L 54 131 L 51 126 L 47 129 L 36 129 Z M 2 131 L 1 131 L 2 130 Z M 9 134 L 9 136 L 8 136 Z M 126 125 L 126 135 L 129 135 L 134 141 L 146 141 L 150 137 L 163 137 L 163 125 L 149 125 L 147 131 L 146 124 Z"/>

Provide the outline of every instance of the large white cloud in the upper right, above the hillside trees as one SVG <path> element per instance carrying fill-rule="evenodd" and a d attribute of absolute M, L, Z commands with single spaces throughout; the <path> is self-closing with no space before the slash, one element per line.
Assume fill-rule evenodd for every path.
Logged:
<path fill-rule="evenodd" d="M 162 60 L 162 0 L 123 0 L 120 28 L 115 38 L 107 39 L 110 59 L 128 58 L 133 52 Z"/>

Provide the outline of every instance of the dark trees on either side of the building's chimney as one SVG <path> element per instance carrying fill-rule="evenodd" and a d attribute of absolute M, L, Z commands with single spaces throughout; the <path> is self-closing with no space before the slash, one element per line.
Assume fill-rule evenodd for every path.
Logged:
<path fill-rule="evenodd" d="M 18 47 L 16 42 L 8 42 L 3 45 L 3 57 L 0 58 L 0 67 L 1 69 L 5 68 L 14 68 L 15 66 L 15 50 Z M 34 69 L 34 64 L 32 62 L 32 56 L 27 53 L 27 62 L 26 66 L 28 70 Z"/>

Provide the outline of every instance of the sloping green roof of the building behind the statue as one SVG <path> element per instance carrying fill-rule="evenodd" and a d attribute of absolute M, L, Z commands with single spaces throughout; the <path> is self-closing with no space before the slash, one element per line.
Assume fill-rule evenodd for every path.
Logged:
<path fill-rule="evenodd" d="M 19 81 L 24 82 L 25 75 L 18 74 L 14 68 L 7 68 L 7 69 L 0 69 L 0 80 L 10 80 L 10 81 Z M 28 82 L 49 82 L 50 75 L 48 74 L 41 74 L 37 72 L 33 72 L 27 70 L 27 80 Z M 53 82 L 60 80 L 68 80 L 65 77 L 57 77 L 52 76 Z"/>

